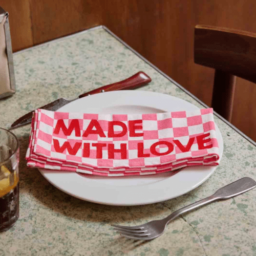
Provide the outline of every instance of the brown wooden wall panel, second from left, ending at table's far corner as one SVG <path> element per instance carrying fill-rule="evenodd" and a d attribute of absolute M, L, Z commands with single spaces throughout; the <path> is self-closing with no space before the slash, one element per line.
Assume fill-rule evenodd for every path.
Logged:
<path fill-rule="evenodd" d="M 102 25 L 100 0 L 30 1 L 35 45 Z"/>

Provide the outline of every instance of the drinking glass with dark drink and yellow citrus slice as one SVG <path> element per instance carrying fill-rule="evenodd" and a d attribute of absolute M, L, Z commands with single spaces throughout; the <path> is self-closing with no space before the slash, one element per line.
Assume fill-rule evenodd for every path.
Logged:
<path fill-rule="evenodd" d="M 19 217 L 19 145 L 17 137 L 0 128 L 0 232 Z"/>

